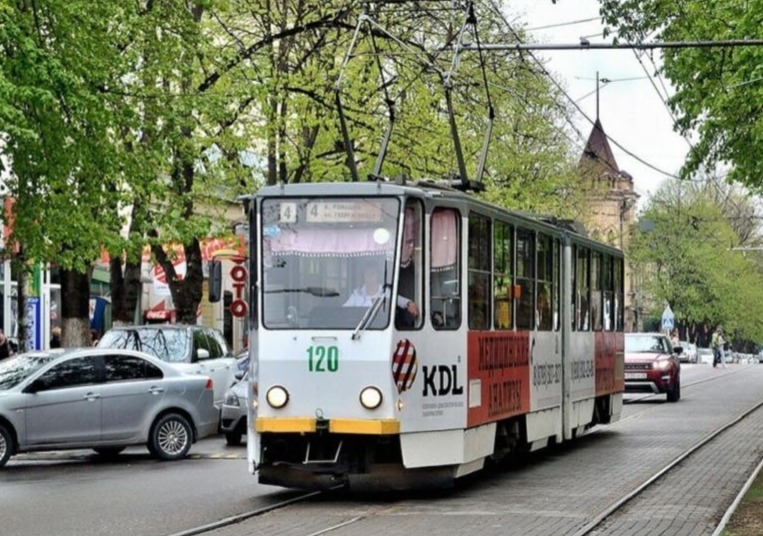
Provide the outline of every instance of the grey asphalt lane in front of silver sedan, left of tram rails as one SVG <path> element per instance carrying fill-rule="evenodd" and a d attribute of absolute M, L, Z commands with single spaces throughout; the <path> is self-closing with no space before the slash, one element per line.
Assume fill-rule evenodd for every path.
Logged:
<path fill-rule="evenodd" d="M 90 451 L 12 458 L 0 470 L 0 533 L 24 536 L 165 535 L 284 498 L 247 471 L 246 447 L 202 440 L 193 457 L 159 462 L 144 448 L 115 461 Z"/>

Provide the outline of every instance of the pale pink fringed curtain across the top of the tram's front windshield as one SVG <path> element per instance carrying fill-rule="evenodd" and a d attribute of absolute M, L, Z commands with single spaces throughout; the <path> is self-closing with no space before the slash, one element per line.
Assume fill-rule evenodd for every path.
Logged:
<path fill-rule="evenodd" d="M 376 229 L 285 229 L 264 241 L 266 254 L 301 257 L 362 257 L 393 254 L 394 240 L 379 243 Z M 388 234 L 387 236 L 390 236 Z M 394 236 L 394 235 L 391 235 Z"/>

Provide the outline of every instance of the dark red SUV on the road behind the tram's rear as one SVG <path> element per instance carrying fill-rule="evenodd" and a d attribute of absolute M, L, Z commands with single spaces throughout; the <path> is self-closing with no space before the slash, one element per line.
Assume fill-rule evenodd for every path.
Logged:
<path fill-rule="evenodd" d="M 662 333 L 625 334 L 625 391 L 666 393 L 668 402 L 681 398 L 683 349 Z"/>

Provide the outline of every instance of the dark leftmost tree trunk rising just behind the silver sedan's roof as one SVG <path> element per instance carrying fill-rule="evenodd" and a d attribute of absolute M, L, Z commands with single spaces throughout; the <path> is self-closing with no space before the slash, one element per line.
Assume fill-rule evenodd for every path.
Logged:
<path fill-rule="evenodd" d="M 90 278 L 86 273 L 61 270 L 61 346 L 90 346 Z"/>

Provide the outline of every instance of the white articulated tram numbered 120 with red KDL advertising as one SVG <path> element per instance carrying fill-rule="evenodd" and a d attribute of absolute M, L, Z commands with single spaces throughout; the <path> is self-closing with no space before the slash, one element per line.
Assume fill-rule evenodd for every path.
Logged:
<path fill-rule="evenodd" d="M 432 182 L 248 203 L 261 483 L 441 485 L 619 418 L 620 251 Z"/>

